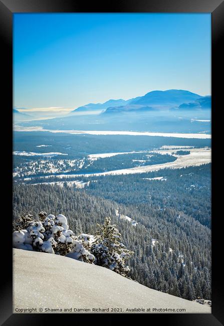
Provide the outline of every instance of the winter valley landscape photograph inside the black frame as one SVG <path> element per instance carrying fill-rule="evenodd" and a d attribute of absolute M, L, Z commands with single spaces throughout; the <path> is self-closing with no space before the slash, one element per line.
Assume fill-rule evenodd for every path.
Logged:
<path fill-rule="evenodd" d="M 211 314 L 211 44 L 211 13 L 13 14 L 14 314 Z"/>

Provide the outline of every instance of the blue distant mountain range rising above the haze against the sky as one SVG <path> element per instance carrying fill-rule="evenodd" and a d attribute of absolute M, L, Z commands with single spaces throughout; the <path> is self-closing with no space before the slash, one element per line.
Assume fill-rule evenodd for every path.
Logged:
<path fill-rule="evenodd" d="M 170 89 L 166 91 L 152 91 L 144 96 L 129 100 L 109 100 L 105 103 L 89 103 L 80 106 L 72 112 L 104 111 L 102 114 L 122 112 L 155 111 L 158 109 L 205 109 L 211 108 L 211 97 L 200 96 L 186 91 Z"/>

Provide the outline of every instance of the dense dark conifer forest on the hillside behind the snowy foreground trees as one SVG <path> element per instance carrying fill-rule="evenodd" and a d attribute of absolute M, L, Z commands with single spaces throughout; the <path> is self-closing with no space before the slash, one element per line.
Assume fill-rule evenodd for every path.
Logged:
<path fill-rule="evenodd" d="M 75 234 L 93 234 L 109 216 L 134 252 L 132 279 L 188 300 L 211 299 L 210 165 L 82 181 L 90 183 L 83 189 L 15 183 L 14 218 L 60 212 Z"/>

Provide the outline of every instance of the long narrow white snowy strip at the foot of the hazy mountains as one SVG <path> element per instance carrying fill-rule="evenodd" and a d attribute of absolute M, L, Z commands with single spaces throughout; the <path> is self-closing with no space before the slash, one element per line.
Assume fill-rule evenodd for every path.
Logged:
<path fill-rule="evenodd" d="M 49 131 L 53 133 L 70 133 L 70 134 L 90 134 L 90 135 L 130 135 L 130 136 L 163 136 L 177 138 L 211 138 L 210 134 L 201 133 L 175 133 L 175 132 L 140 132 L 140 131 L 111 131 L 111 130 L 53 130 L 44 129 L 41 126 L 23 127 L 18 124 L 14 125 L 15 131 Z"/>

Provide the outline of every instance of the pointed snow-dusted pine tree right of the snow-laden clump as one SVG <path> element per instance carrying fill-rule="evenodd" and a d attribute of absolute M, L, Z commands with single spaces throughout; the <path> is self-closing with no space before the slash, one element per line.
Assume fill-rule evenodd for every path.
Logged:
<path fill-rule="evenodd" d="M 106 217 L 104 224 L 97 224 L 96 240 L 92 245 L 92 253 L 96 257 L 96 264 L 109 268 L 122 276 L 128 276 L 129 267 L 125 265 L 133 254 L 121 242 L 121 234 L 111 218 Z"/>

